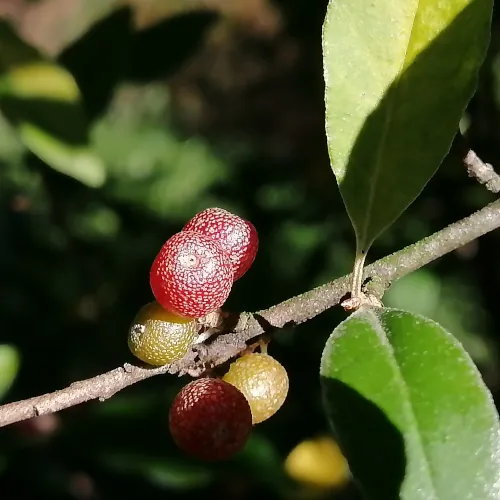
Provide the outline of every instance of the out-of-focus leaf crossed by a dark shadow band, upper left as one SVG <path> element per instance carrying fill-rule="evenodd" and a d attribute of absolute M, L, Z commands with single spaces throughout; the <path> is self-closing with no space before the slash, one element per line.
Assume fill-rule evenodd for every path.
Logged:
<path fill-rule="evenodd" d="M 0 22 L 0 110 L 47 165 L 91 187 L 106 171 L 88 147 L 88 124 L 73 76 Z"/>

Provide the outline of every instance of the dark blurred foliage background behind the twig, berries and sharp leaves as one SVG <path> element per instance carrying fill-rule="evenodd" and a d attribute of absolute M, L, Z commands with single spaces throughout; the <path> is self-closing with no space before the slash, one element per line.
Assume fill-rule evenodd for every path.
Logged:
<path fill-rule="evenodd" d="M 124 362 L 163 242 L 220 206 L 260 250 L 226 308 L 251 311 L 350 272 L 354 236 L 324 134 L 327 0 L 0 0 L 0 397 Z M 500 36 L 461 126 L 500 169 Z M 69 72 L 69 73 L 68 73 Z M 70 75 L 73 75 L 74 80 Z M 75 81 L 78 87 L 75 85 Z M 418 99 L 418 96 L 415 96 Z M 453 149 L 370 260 L 494 196 Z M 500 233 L 396 283 L 386 304 L 448 328 L 500 395 Z M 2 499 L 359 499 L 322 413 L 319 361 L 340 308 L 275 336 L 290 393 L 234 459 L 177 450 L 155 377 L 0 431 Z M 377 460 L 377 450 L 367 449 Z"/>

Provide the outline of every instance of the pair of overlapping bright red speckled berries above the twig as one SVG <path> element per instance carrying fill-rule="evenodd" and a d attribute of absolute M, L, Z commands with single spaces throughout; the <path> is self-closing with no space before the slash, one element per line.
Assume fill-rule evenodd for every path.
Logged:
<path fill-rule="evenodd" d="M 227 300 L 234 281 L 250 268 L 259 239 L 252 223 L 221 208 L 195 215 L 163 245 L 150 285 L 162 307 L 201 318 Z"/>

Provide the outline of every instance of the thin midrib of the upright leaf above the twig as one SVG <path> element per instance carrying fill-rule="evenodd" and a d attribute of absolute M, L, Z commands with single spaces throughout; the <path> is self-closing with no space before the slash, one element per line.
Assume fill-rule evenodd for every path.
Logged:
<path fill-rule="evenodd" d="M 373 200 L 375 198 L 375 192 L 376 192 L 375 188 L 378 186 L 378 183 L 379 183 L 379 175 L 380 175 L 380 169 L 381 169 L 381 165 L 382 165 L 382 154 L 383 154 L 383 151 L 385 149 L 387 137 L 389 136 L 389 129 L 390 129 L 390 122 L 391 122 L 391 118 L 392 118 L 392 112 L 394 110 L 395 103 L 398 101 L 398 97 L 399 97 L 398 94 L 399 94 L 399 88 L 400 88 L 399 80 L 401 79 L 403 68 L 405 67 L 405 64 L 406 64 L 406 58 L 408 56 L 408 48 L 410 47 L 410 44 L 411 44 L 413 29 L 415 27 L 415 20 L 417 19 L 417 13 L 418 13 L 419 8 L 420 8 L 420 0 L 417 0 L 415 13 L 413 15 L 413 21 L 411 23 L 410 33 L 408 35 L 408 42 L 406 43 L 406 47 L 404 50 L 403 60 L 401 62 L 399 70 L 396 74 L 396 78 L 391 82 L 391 84 L 388 87 L 388 89 L 389 89 L 391 86 L 394 86 L 394 97 L 389 101 L 388 107 L 387 107 L 387 112 L 385 114 L 386 116 L 385 116 L 385 120 L 384 120 L 384 128 L 382 130 L 382 137 L 380 139 L 379 147 L 377 149 L 377 153 L 375 156 L 374 180 L 372 183 L 370 183 L 369 192 L 368 192 L 368 204 L 367 204 L 367 213 L 366 213 L 366 217 L 365 217 L 365 223 L 363 225 L 363 230 L 362 230 L 361 235 L 357 235 L 358 236 L 357 237 L 358 245 L 359 245 L 360 241 L 363 241 L 366 239 L 367 230 L 368 230 L 368 227 L 369 227 L 371 219 L 372 219 L 372 206 L 373 206 Z M 383 96 L 382 96 L 382 98 L 383 98 Z M 372 241 L 373 241 L 373 239 L 374 239 L 374 237 L 372 238 Z M 372 241 L 364 241 L 364 245 L 366 247 L 369 247 L 372 244 Z M 368 248 L 359 248 L 359 250 L 367 251 Z"/>

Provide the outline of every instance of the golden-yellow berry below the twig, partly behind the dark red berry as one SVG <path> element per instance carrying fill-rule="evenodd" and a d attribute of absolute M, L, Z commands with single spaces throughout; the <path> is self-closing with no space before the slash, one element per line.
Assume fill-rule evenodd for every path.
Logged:
<path fill-rule="evenodd" d="M 288 375 L 285 368 L 269 354 L 245 354 L 231 364 L 222 378 L 247 398 L 254 424 L 272 417 L 285 402 Z"/>

